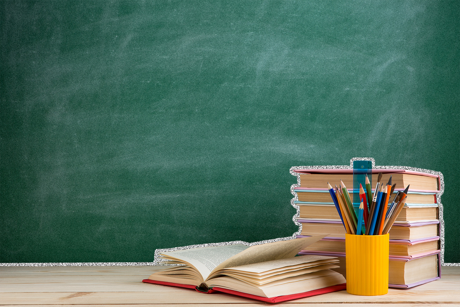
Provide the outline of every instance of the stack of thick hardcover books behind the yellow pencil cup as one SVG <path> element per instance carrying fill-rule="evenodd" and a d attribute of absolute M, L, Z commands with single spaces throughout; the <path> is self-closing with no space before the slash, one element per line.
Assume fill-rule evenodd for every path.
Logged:
<path fill-rule="evenodd" d="M 328 191 L 328 182 L 334 186 L 342 180 L 353 199 L 353 169 L 296 169 L 294 172 L 300 177 L 300 187 L 294 188 L 298 196 L 294 203 L 300 208 L 297 220 L 302 223 L 302 232 L 298 237 L 329 234 L 299 255 L 339 257 L 340 267 L 334 270 L 346 278 L 346 232 Z M 441 264 L 436 200 L 439 176 L 404 169 L 373 169 L 375 179 L 380 172 L 383 173 L 381 182 L 387 182 L 392 176 L 392 182 L 396 183 L 389 203 L 397 191 L 403 191 L 410 185 L 403 210 L 389 232 L 389 287 L 411 288 L 439 279 Z M 375 184 L 372 186 L 374 188 Z"/>

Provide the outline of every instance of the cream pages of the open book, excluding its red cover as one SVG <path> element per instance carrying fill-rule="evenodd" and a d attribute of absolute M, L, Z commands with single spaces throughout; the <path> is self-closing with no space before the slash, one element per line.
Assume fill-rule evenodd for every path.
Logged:
<path fill-rule="evenodd" d="M 294 257 L 311 243 L 326 236 L 304 237 L 251 247 L 232 244 L 164 252 L 160 255 L 169 260 L 165 264 L 179 266 L 155 272 L 144 281 L 190 285 L 190 288 L 196 287 L 202 292 L 213 288 L 226 292 L 223 291 L 226 289 L 266 298 L 343 284 L 343 275 L 331 270 L 339 267 L 334 264 L 338 262 L 336 257 Z M 343 290 L 334 289 L 326 292 Z"/>

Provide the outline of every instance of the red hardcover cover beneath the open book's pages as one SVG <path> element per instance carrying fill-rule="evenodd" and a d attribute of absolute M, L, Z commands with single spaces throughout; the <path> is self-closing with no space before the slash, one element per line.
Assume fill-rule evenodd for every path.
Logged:
<path fill-rule="evenodd" d="M 201 290 L 197 289 L 198 287 L 196 287 L 194 285 L 191 285 L 191 284 L 168 283 L 168 282 L 165 282 L 165 281 L 158 281 L 158 280 L 152 280 L 152 279 L 144 279 L 143 282 L 144 283 L 150 283 L 150 284 L 163 284 L 163 285 L 167 285 L 167 286 L 195 289 L 198 292 L 207 293 L 207 294 L 215 293 L 215 292 L 224 292 L 224 293 L 228 293 L 228 294 L 233 294 L 233 295 L 238 295 L 238 296 L 251 298 L 251 299 L 254 299 L 254 300 L 265 301 L 265 302 L 268 302 L 268 303 L 279 303 L 279 302 L 282 302 L 282 301 L 296 300 L 296 299 L 302 298 L 302 297 L 308 297 L 308 296 L 320 295 L 320 294 L 329 293 L 329 292 L 346 290 L 346 284 L 337 284 L 335 286 L 330 286 L 330 287 L 326 287 L 326 288 L 322 288 L 322 289 L 317 289 L 317 290 L 312 290 L 312 291 L 307 291 L 307 292 L 302 292 L 302 293 L 297 293 L 297 294 L 281 295 L 281 296 L 275 296 L 275 297 L 263 297 L 263 296 L 247 294 L 247 293 L 243 293 L 243 292 L 239 292 L 239 291 L 223 289 L 223 288 L 219 288 L 219 287 L 214 287 L 213 289 L 209 289 L 207 292 L 205 292 L 205 291 L 201 291 Z"/>

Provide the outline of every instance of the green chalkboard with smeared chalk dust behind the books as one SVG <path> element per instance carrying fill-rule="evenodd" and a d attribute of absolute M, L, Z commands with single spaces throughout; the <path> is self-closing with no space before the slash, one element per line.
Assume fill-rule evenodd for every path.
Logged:
<path fill-rule="evenodd" d="M 0 262 L 288 237 L 289 168 L 442 172 L 460 262 L 458 1 L 2 1 Z"/>

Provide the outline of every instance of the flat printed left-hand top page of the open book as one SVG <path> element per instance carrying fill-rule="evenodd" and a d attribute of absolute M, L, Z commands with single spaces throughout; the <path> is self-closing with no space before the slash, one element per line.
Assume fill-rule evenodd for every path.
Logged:
<path fill-rule="evenodd" d="M 164 252 L 160 255 L 165 255 L 166 259 L 178 259 L 190 264 L 195 267 L 198 272 L 200 272 L 202 279 L 204 280 L 221 262 L 224 262 L 247 248 L 247 245 L 232 244 L 223 246 L 208 246 L 197 249 L 176 250 L 173 252 Z"/>

